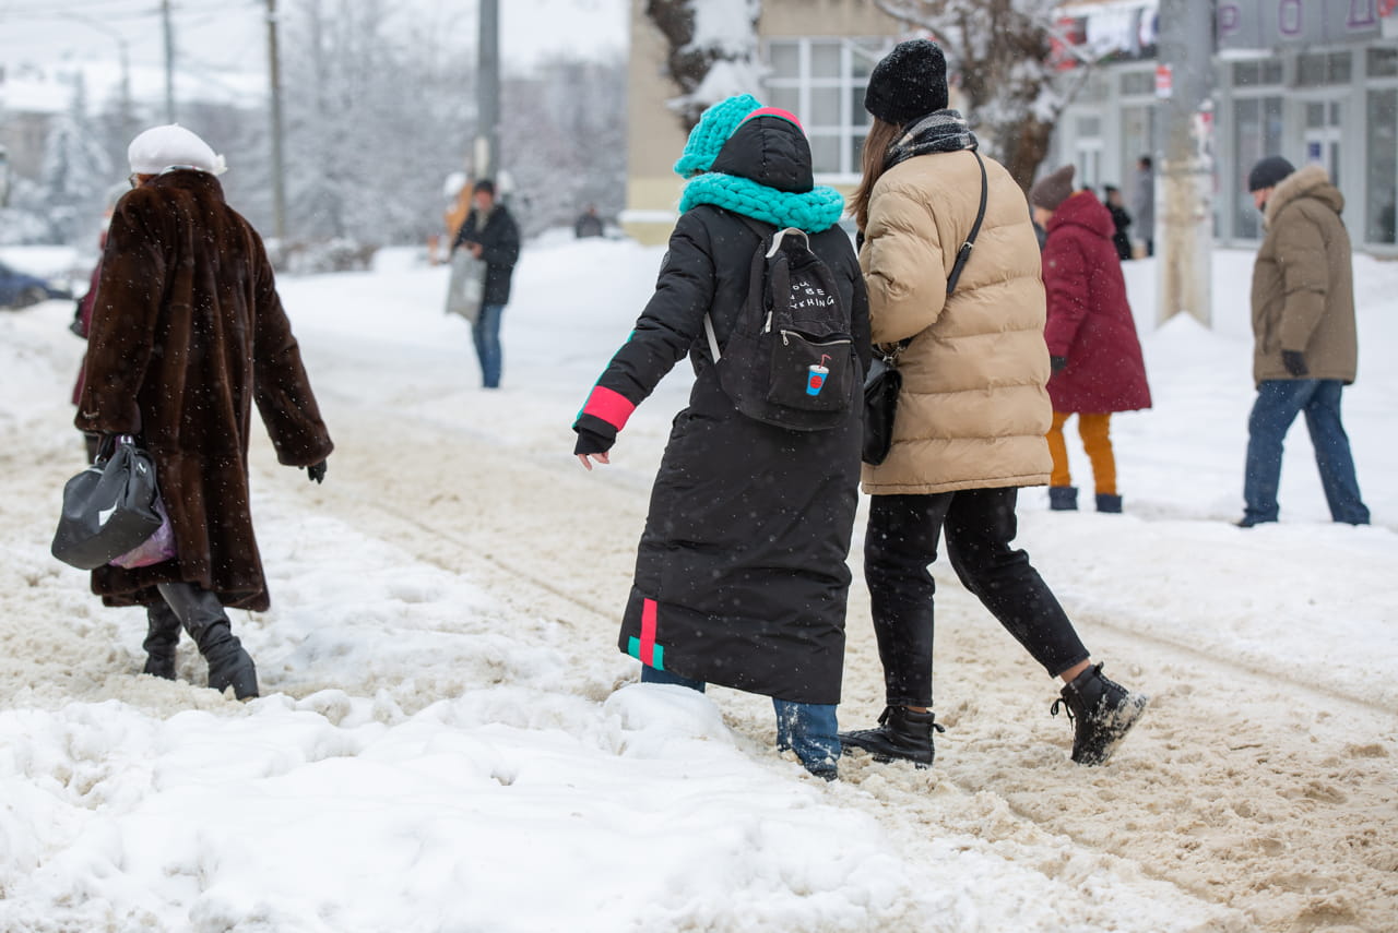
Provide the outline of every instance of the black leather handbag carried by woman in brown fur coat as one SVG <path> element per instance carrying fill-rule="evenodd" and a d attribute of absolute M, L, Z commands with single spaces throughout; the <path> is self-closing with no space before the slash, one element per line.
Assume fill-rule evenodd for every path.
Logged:
<path fill-rule="evenodd" d="M 116 439 L 106 458 L 63 486 L 63 514 L 53 556 L 78 570 L 95 570 L 155 535 L 168 521 L 155 486 L 155 464 L 130 436 Z"/>

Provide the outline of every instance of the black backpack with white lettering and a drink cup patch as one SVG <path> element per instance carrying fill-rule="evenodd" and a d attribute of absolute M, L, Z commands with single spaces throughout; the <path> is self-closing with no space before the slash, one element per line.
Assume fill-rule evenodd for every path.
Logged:
<path fill-rule="evenodd" d="M 748 296 L 721 351 L 713 318 L 703 318 L 719 384 L 755 420 L 804 432 L 835 427 L 863 384 L 835 274 L 811 251 L 805 232 L 740 219 L 759 246 Z"/>

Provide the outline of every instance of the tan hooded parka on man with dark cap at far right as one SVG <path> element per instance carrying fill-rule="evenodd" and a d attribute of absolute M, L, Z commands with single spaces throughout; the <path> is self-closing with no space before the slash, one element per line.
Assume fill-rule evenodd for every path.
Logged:
<path fill-rule="evenodd" d="M 1288 175 L 1267 200 L 1267 236 L 1253 265 L 1253 379 L 1355 381 L 1355 278 L 1349 232 L 1339 212 L 1345 196 L 1325 169 L 1307 165 Z M 878 331 L 875 331 L 877 334 Z M 1282 351 L 1306 356 L 1307 373 L 1292 376 Z"/>

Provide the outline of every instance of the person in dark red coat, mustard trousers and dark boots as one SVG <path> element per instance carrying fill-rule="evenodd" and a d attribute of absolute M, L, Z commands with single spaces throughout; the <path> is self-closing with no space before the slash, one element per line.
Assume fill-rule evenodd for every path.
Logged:
<path fill-rule="evenodd" d="M 1062 426 L 1078 415 L 1078 433 L 1092 461 L 1097 511 L 1121 511 L 1117 462 L 1111 453 L 1113 412 L 1151 408 L 1151 387 L 1137 338 L 1121 260 L 1111 244 L 1111 214 L 1089 190 L 1072 190 L 1074 166 L 1040 179 L 1029 191 L 1035 219 L 1048 236 L 1043 247 L 1048 318 L 1044 341 L 1053 362 L 1048 398 L 1053 427 L 1048 451 L 1048 507 L 1078 507 L 1068 472 Z"/>

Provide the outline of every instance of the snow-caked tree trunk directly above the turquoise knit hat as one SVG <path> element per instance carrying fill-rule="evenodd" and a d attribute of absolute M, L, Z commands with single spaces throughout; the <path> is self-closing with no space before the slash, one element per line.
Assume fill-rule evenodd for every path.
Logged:
<path fill-rule="evenodd" d="M 761 88 L 762 0 L 647 0 L 646 15 L 670 45 L 665 64 L 679 89 L 670 106 L 686 131 L 710 103 Z"/>

